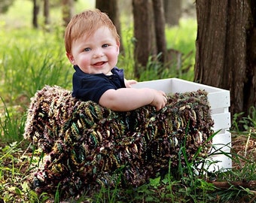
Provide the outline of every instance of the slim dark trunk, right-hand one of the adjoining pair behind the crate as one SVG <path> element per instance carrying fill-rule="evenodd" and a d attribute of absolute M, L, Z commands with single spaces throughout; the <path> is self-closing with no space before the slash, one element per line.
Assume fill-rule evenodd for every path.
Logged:
<path fill-rule="evenodd" d="M 154 28 L 156 33 L 157 54 L 161 53 L 160 62 L 164 63 L 166 58 L 166 33 L 163 11 L 163 1 L 153 0 Z"/>

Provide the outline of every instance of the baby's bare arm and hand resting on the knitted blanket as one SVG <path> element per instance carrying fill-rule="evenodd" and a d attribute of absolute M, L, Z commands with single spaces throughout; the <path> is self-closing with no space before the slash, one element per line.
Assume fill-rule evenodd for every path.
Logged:
<path fill-rule="evenodd" d="M 132 111 L 145 105 L 152 105 L 159 111 L 166 102 L 163 91 L 149 88 L 108 89 L 99 99 L 99 105 L 112 111 Z"/>

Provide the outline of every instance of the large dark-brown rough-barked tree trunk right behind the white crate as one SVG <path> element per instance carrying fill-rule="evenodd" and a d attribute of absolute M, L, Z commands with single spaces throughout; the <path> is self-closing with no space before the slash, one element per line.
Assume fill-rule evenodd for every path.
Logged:
<path fill-rule="evenodd" d="M 256 106 L 256 2 L 197 0 L 194 80 L 230 90 L 230 112 Z"/>

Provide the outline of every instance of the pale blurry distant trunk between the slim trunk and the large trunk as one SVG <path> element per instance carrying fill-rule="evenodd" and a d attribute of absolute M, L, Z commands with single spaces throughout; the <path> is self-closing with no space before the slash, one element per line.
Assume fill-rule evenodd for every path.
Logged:
<path fill-rule="evenodd" d="M 181 0 L 163 0 L 164 16 L 168 26 L 178 25 L 181 18 Z"/>

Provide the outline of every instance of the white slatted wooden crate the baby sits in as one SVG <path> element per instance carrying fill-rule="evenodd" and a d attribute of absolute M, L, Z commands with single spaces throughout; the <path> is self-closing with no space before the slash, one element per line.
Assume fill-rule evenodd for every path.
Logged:
<path fill-rule="evenodd" d="M 214 120 L 213 130 L 218 132 L 212 139 L 213 152 L 224 151 L 230 153 L 231 148 L 231 134 L 230 129 L 230 91 L 225 89 L 207 86 L 200 83 L 194 83 L 178 78 L 169 78 L 163 80 L 150 80 L 139 82 L 133 85 L 134 88 L 148 87 L 152 89 L 162 90 L 163 92 L 192 92 L 198 89 L 204 89 L 208 92 L 208 101 L 211 106 L 212 120 Z M 232 168 L 232 160 L 230 157 L 220 154 L 209 158 L 216 162 L 209 166 L 209 171 L 218 171 L 227 168 Z"/>

